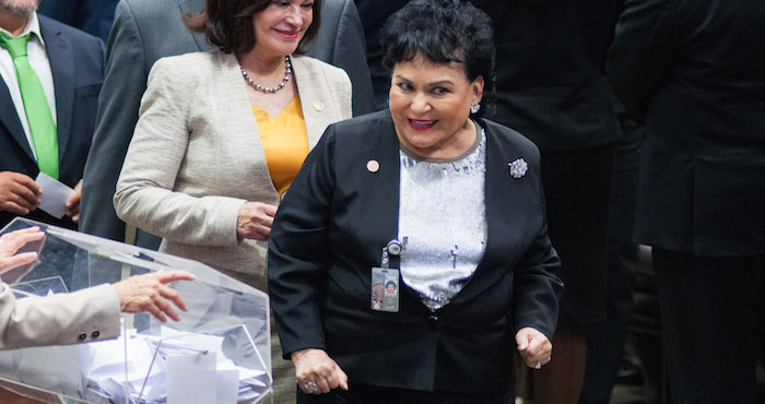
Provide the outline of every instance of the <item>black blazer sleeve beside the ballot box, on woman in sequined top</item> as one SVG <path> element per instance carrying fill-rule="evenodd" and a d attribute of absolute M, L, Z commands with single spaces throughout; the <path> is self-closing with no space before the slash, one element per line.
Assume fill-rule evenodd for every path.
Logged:
<path fill-rule="evenodd" d="M 330 126 L 292 182 L 269 237 L 269 296 L 284 358 L 299 349 L 325 348 L 320 305 L 330 259 L 333 151 Z"/>

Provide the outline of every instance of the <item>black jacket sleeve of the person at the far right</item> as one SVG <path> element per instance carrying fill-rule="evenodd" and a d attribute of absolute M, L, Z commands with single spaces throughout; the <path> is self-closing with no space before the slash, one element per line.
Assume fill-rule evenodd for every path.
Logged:
<path fill-rule="evenodd" d="M 672 1 L 629 0 L 608 55 L 608 75 L 627 112 L 645 120 L 650 99 L 673 64 L 678 49 Z"/>

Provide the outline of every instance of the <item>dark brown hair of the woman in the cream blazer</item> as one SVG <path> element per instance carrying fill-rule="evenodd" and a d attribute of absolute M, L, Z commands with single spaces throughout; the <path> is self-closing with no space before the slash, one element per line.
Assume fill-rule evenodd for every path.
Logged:
<path fill-rule="evenodd" d="M 245 54 L 255 48 L 252 15 L 266 10 L 273 0 L 207 0 L 199 15 L 184 15 L 189 29 L 204 33 L 222 51 Z M 314 22 L 301 39 L 295 54 L 306 52 L 306 45 L 316 38 L 321 25 L 321 2 L 314 0 Z"/>

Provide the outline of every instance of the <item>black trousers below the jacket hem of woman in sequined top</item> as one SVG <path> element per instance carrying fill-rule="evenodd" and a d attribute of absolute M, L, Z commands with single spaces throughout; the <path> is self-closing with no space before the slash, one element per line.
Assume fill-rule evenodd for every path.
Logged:
<path fill-rule="evenodd" d="M 497 393 L 426 392 L 352 384 L 349 391 L 308 395 L 297 389 L 297 404 L 513 404 L 515 390 Z"/>

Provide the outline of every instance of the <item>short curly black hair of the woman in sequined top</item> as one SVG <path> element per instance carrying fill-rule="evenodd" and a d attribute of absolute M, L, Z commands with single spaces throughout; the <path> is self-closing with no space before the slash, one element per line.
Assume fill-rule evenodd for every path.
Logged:
<path fill-rule="evenodd" d="M 497 0 L 501 1 L 501 0 Z M 434 63 L 460 62 L 468 81 L 483 76 L 483 108 L 495 97 L 492 20 L 467 1 L 414 0 L 397 11 L 380 31 L 382 67 L 389 72 L 422 55 Z"/>

